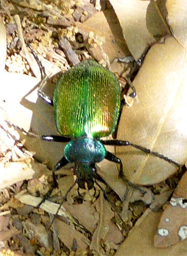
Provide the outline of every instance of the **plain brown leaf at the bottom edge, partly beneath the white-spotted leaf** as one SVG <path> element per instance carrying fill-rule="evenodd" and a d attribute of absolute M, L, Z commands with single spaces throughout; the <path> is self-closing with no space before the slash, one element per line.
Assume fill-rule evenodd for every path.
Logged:
<path fill-rule="evenodd" d="M 137 221 L 135 227 L 128 234 L 123 244 L 117 250 L 115 256 L 178 256 L 186 255 L 187 240 L 169 248 L 154 247 L 154 233 L 161 218 L 161 212 L 152 212 L 147 209 Z"/>

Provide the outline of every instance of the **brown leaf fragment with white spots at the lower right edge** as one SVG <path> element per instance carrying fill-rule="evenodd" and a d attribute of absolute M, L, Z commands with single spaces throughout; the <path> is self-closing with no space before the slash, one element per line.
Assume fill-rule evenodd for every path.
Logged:
<path fill-rule="evenodd" d="M 187 172 L 182 176 L 170 203 L 167 205 L 157 233 L 154 246 L 169 247 L 187 238 Z"/>

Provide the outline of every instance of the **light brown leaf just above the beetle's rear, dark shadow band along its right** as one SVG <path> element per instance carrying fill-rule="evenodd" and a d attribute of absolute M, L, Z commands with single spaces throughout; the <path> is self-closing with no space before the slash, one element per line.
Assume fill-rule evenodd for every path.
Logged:
<path fill-rule="evenodd" d="M 76 23 L 76 27 L 87 40 L 90 32 L 93 32 L 93 40 L 98 37 L 98 45 L 95 45 L 95 48 L 92 46 L 88 48 L 97 61 L 103 60 L 104 54 L 109 56 L 110 62 L 114 58 L 122 58 L 129 54 L 118 21 L 115 20 L 111 11 L 98 12 L 87 19 L 86 22 Z M 99 38 L 102 41 L 101 47 L 99 47 Z"/>

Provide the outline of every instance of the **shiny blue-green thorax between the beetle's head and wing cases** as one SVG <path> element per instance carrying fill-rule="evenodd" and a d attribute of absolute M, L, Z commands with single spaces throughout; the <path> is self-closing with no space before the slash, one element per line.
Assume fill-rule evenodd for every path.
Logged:
<path fill-rule="evenodd" d="M 106 155 L 104 145 L 97 139 L 79 137 L 68 142 L 64 148 L 64 156 L 69 162 L 98 163 Z"/>

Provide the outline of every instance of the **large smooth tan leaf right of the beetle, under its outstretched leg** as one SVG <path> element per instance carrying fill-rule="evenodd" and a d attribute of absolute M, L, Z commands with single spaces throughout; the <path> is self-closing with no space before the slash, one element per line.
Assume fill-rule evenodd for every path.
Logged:
<path fill-rule="evenodd" d="M 154 45 L 133 85 L 138 97 L 124 106 L 117 138 L 150 148 L 184 164 L 187 159 L 186 50 L 173 37 Z M 126 177 L 135 184 L 155 184 L 177 167 L 132 147 L 116 147 Z"/>

